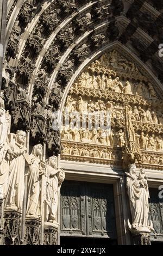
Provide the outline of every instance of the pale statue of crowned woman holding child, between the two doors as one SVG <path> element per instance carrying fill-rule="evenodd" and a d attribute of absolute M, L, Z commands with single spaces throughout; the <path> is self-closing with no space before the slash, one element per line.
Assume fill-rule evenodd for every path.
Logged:
<path fill-rule="evenodd" d="M 145 172 L 140 169 L 140 173 L 136 175 L 136 165 L 130 164 L 129 173 L 127 175 L 127 191 L 129 196 L 130 211 L 132 223 L 130 230 L 136 232 L 151 232 L 152 224 L 148 221 L 148 182 Z M 149 227 L 149 225 L 151 227 Z"/>

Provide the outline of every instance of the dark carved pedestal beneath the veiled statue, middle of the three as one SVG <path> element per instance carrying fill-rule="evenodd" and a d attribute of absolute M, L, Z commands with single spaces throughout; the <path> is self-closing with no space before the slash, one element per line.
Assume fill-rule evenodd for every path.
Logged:
<path fill-rule="evenodd" d="M 40 218 L 26 217 L 23 245 L 39 245 L 40 244 L 40 227 L 41 227 Z"/>

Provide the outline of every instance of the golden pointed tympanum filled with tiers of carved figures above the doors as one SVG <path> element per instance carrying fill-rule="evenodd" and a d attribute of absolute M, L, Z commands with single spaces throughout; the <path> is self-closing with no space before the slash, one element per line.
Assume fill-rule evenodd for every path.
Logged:
<path fill-rule="evenodd" d="M 163 168 L 162 107 L 136 63 L 115 50 L 103 54 L 87 66 L 67 96 L 62 159 L 121 164 L 130 158 Z"/>

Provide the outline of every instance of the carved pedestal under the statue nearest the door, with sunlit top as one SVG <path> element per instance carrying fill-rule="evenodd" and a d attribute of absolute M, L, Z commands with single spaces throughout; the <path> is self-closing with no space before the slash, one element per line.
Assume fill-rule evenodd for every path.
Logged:
<path fill-rule="evenodd" d="M 44 223 L 44 245 L 57 245 L 58 227 L 57 222 Z"/>

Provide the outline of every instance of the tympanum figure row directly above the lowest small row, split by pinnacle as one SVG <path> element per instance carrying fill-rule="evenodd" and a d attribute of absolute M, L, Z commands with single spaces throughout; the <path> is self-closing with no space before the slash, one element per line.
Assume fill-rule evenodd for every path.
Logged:
<path fill-rule="evenodd" d="M 135 132 L 134 137 L 134 141 L 136 141 L 141 149 L 163 151 L 163 138 L 161 135 L 145 135 L 144 132 L 141 132 L 140 134 Z M 61 138 L 66 141 L 103 144 L 117 147 L 123 147 L 125 143 L 125 136 L 122 129 L 113 131 L 110 129 L 104 130 L 100 127 L 96 129 L 94 127 L 92 130 L 89 130 L 89 128 L 78 128 L 78 124 L 73 126 L 72 123 L 62 127 Z"/>

